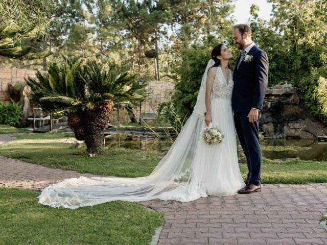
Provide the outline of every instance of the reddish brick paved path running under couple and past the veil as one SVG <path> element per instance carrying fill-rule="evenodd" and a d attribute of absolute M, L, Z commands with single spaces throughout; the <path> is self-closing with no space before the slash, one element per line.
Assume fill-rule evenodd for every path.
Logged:
<path fill-rule="evenodd" d="M 6 137 L 0 135 L 0 144 Z M 41 189 L 81 175 L 0 156 L 0 185 Z M 166 213 L 158 244 L 327 244 L 319 225 L 327 214 L 327 184 L 262 187 L 250 195 L 140 204 Z"/>

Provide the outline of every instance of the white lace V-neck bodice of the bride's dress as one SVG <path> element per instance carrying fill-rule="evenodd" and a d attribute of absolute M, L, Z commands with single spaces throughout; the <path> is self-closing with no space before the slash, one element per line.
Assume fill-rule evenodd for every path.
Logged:
<path fill-rule="evenodd" d="M 232 71 L 229 70 L 229 83 L 227 84 L 223 72 L 220 66 L 218 66 L 217 74 L 213 84 L 212 100 L 231 101 L 232 89 L 233 89 Z"/>

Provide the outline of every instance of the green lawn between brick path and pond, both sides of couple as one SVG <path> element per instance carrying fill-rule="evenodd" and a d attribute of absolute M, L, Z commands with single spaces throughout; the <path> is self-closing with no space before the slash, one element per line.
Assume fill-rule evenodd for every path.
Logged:
<path fill-rule="evenodd" d="M 151 173 L 162 155 L 123 148 L 110 148 L 107 155 L 88 157 L 84 149 L 65 143 L 72 134 L 17 135 L 17 140 L 0 146 L 0 155 L 48 167 L 77 170 L 97 175 L 141 177 Z M 242 175 L 246 164 L 240 164 Z M 300 159 L 277 161 L 263 159 L 262 183 L 326 183 L 327 162 Z"/>

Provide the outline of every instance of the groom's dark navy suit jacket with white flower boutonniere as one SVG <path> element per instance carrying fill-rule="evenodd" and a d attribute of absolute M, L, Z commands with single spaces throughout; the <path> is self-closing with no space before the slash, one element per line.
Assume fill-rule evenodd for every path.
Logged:
<path fill-rule="evenodd" d="M 239 55 L 233 72 L 234 87 L 231 105 L 235 112 L 249 112 L 251 108 L 262 110 L 267 90 L 268 57 L 266 52 L 254 45 L 246 56 L 253 56 L 253 59 L 249 62 L 243 59 L 237 69 L 241 58 Z"/>

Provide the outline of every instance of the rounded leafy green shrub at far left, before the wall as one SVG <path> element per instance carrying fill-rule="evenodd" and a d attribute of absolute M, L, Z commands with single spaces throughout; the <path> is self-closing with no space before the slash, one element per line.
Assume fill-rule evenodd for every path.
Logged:
<path fill-rule="evenodd" d="M 0 102 L 0 124 L 18 126 L 21 115 L 22 110 L 18 102 L 13 100 L 7 103 Z"/>

